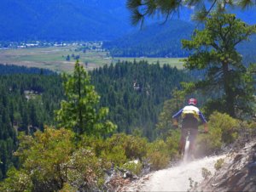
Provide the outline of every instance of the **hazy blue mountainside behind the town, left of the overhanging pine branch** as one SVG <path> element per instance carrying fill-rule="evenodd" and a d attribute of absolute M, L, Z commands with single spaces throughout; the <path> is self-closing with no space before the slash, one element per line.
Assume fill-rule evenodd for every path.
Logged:
<path fill-rule="evenodd" d="M 0 41 L 110 40 L 131 31 L 125 0 L 2 0 Z"/>

